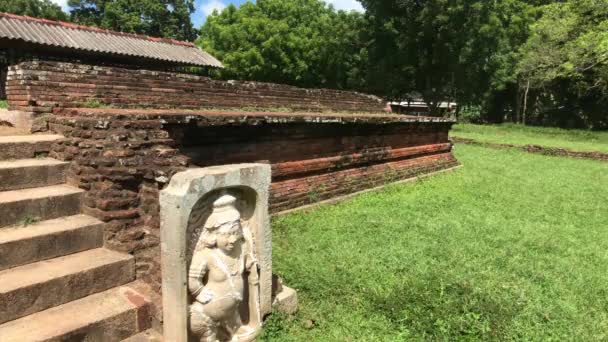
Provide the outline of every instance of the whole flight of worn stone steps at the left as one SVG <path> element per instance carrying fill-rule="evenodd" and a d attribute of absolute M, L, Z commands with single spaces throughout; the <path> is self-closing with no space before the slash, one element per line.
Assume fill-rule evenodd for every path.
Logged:
<path fill-rule="evenodd" d="M 81 214 L 57 135 L 0 137 L 0 341 L 122 341 L 150 328 L 133 257 Z"/>

